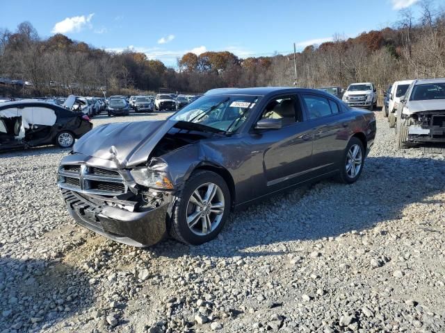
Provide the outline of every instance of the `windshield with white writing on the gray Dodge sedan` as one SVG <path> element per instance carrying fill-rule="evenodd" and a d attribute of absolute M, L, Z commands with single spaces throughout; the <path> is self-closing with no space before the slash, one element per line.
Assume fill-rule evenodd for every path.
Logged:
<path fill-rule="evenodd" d="M 248 119 L 257 101 L 257 96 L 209 95 L 186 105 L 172 119 L 235 132 Z"/>

